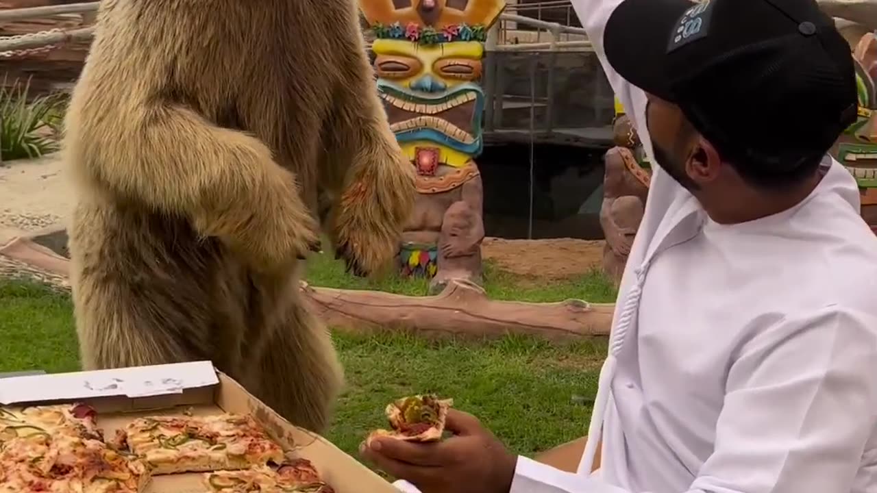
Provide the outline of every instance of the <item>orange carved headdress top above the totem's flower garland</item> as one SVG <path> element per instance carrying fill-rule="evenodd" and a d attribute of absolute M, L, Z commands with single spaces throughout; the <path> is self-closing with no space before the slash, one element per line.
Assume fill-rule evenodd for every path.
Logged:
<path fill-rule="evenodd" d="M 414 23 L 491 25 L 505 7 L 503 0 L 360 0 L 369 24 Z"/>

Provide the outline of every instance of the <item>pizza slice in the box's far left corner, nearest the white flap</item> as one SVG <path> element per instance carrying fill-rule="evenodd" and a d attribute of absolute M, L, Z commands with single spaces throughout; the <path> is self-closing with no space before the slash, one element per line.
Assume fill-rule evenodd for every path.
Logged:
<path fill-rule="evenodd" d="M 18 437 L 57 434 L 103 440 L 96 411 L 87 404 L 52 404 L 0 408 L 0 443 Z"/>

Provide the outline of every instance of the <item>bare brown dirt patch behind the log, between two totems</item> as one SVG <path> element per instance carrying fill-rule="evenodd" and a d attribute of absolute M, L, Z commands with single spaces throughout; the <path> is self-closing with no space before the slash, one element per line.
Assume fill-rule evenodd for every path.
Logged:
<path fill-rule="evenodd" d="M 485 238 L 482 255 L 512 274 L 554 281 L 599 268 L 602 240 Z"/>

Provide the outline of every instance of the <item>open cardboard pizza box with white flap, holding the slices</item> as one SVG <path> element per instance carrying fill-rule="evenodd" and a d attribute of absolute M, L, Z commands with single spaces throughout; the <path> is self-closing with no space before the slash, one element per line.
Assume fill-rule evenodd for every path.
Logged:
<path fill-rule="evenodd" d="M 329 440 L 291 425 L 210 361 L 0 379 L 2 405 L 72 402 L 95 408 L 106 439 L 144 416 L 249 414 L 284 450 L 313 462 L 337 493 L 398 493 Z M 146 493 L 205 491 L 198 474 L 156 475 L 146 489 Z"/>

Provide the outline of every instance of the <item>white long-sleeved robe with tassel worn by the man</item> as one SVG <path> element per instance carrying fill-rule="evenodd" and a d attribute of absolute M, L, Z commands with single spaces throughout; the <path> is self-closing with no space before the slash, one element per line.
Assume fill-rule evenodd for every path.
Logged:
<path fill-rule="evenodd" d="M 621 0 L 572 2 L 656 162 L 645 93 L 602 51 Z M 801 204 L 738 225 L 652 167 L 579 472 L 518 457 L 510 493 L 877 493 L 877 237 L 824 166 Z"/>

